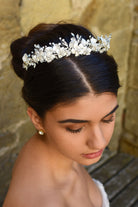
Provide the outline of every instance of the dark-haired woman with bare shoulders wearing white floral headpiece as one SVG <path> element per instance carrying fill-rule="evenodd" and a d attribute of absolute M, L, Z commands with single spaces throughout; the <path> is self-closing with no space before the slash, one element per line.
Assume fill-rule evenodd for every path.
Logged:
<path fill-rule="evenodd" d="M 108 207 L 83 165 L 97 162 L 115 123 L 119 80 L 110 37 L 74 24 L 39 24 L 11 44 L 37 129 L 13 168 L 3 207 Z"/>

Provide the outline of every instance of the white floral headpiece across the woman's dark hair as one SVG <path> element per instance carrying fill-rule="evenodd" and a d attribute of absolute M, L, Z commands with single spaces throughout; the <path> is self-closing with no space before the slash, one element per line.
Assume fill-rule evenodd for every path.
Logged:
<path fill-rule="evenodd" d="M 49 46 L 40 46 L 39 44 L 34 44 L 34 51 L 30 54 L 24 54 L 22 57 L 23 68 L 28 70 L 30 66 L 34 68 L 40 62 L 50 63 L 54 59 L 59 59 L 62 57 L 68 57 L 71 54 L 75 56 L 79 55 L 90 55 L 92 51 L 103 53 L 110 48 L 111 35 L 105 38 L 103 36 L 94 38 L 92 36 L 85 40 L 80 35 L 75 35 L 71 33 L 72 37 L 69 44 L 65 39 L 59 38 L 59 43 L 49 43 Z"/>

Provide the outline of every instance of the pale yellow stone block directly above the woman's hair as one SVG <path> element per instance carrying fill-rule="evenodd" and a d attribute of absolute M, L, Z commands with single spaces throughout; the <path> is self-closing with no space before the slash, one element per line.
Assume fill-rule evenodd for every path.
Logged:
<path fill-rule="evenodd" d="M 72 13 L 70 1 L 66 0 L 23 0 L 20 11 L 24 33 L 41 22 L 57 23 L 70 20 Z"/>

